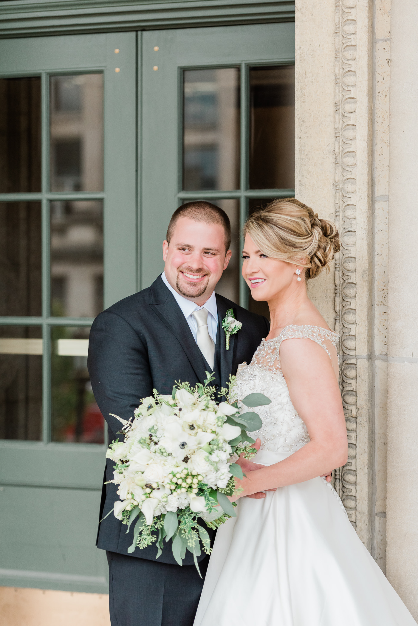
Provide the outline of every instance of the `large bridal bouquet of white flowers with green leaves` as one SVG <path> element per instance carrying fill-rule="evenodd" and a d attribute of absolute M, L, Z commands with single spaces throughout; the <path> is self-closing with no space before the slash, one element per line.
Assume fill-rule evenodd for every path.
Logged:
<path fill-rule="evenodd" d="M 176 384 L 171 396 L 154 389 L 153 397 L 135 409 L 133 421 L 115 416 L 123 423 L 125 441 L 113 441 L 106 457 L 116 463 L 110 482 L 119 485 L 113 512 L 128 526 L 126 532 L 136 520 L 128 552 L 156 541 L 158 558 L 163 541 L 171 540 L 178 564 L 189 550 L 198 567 L 200 541 L 210 553 L 208 533 L 198 518 L 217 528 L 235 516 L 235 503 L 227 496 L 235 491 L 235 476 L 243 473 L 234 461 L 240 454 L 248 459 L 256 453 L 247 431 L 261 428 L 262 421 L 252 411 L 240 413 L 237 401 L 217 404 L 215 387 L 209 386 L 214 379 L 206 375 L 204 385 Z M 230 398 L 234 382 L 230 377 L 221 396 Z M 259 393 L 241 402 L 247 407 L 270 404 Z"/>

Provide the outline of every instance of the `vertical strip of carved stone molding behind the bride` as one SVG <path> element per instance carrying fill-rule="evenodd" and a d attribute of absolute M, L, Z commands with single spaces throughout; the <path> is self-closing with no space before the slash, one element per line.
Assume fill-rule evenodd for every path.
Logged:
<path fill-rule="evenodd" d="M 335 331 L 340 334 L 340 385 L 349 459 L 336 469 L 335 490 L 356 525 L 356 0 L 335 0 Z"/>

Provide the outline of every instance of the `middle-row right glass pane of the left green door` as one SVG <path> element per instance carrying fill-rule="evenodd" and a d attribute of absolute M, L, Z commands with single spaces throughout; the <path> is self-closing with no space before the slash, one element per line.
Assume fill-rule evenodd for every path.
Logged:
<path fill-rule="evenodd" d="M 51 202 L 51 315 L 103 310 L 103 202 Z"/>

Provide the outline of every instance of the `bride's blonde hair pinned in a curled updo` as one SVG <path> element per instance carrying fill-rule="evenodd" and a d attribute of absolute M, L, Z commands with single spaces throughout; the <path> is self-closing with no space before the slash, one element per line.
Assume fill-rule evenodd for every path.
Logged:
<path fill-rule="evenodd" d="M 305 267 L 305 279 L 315 278 L 340 249 L 337 227 L 322 220 L 295 198 L 273 200 L 250 215 L 244 226 L 264 254 Z"/>

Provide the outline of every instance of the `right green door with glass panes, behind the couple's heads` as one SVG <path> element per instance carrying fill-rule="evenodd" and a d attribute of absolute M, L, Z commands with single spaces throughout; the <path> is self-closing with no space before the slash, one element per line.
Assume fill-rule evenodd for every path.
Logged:
<path fill-rule="evenodd" d="M 248 212 L 294 194 L 294 42 L 293 23 L 143 33 L 142 287 L 163 270 L 173 211 L 205 199 L 232 222 L 217 290 L 264 312 L 239 278 L 240 227 Z"/>

